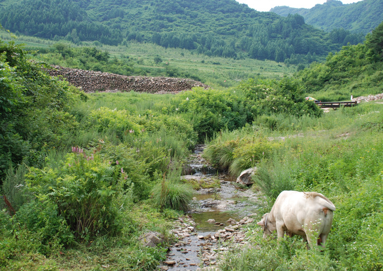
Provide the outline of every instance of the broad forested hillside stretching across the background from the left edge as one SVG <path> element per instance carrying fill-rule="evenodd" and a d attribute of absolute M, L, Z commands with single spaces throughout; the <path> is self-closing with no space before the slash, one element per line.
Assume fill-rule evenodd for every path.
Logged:
<path fill-rule="evenodd" d="M 153 42 L 207 56 L 253 58 L 298 64 L 326 56 L 348 42 L 304 23 L 303 17 L 257 12 L 234 0 L 4 1 L 0 22 L 15 33 L 80 44 Z"/>

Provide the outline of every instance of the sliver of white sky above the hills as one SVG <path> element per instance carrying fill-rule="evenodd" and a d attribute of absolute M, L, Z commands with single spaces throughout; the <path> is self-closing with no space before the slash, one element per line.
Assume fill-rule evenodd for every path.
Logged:
<path fill-rule="evenodd" d="M 249 8 L 257 11 L 270 11 L 277 6 L 287 6 L 290 8 L 311 9 L 316 4 L 323 4 L 326 0 L 236 0 L 241 4 L 246 4 Z M 343 4 L 351 4 L 360 0 L 341 0 Z"/>

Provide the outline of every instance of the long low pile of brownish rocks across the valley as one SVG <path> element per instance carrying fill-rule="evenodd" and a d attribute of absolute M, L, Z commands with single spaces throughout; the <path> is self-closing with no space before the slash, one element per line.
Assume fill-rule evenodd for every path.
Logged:
<path fill-rule="evenodd" d="M 163 94 L 178 93 L 190 90 L 193 87 L 209 88 L 209 86 L 201 82 L 181 78 L 124 76 L 59 66 L 52 66 L 52 69 L 47 70 L 47 72 L 51 76 L 66 78 L 69 83 L 83 89 L 84 92 L 124 92 L 134 90 Z"/>

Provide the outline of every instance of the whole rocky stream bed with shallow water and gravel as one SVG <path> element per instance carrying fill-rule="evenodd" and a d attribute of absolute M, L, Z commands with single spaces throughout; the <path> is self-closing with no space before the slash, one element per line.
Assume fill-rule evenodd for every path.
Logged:
<path fill-rule="evenodd" d="M 205 145 L 196 146 L 184 170 L 186 175 L 181 178 L 219 182 L 220 187 L 195 191 L 186 218 L 177 220 L 178 227 L 172 230 L 179 242 L 169 248 L 167 259 L 160 266 L 162 270 L 207 270 L 214 266 L 219 250 L 225 250 L 222 246 L 218 248 L 218 243 L 231 238 L 234 243 L 245 244 L 240 227 L 251 223 L 248 216 L 257 211 L 259 195 L 251 189 L 239 188 L 234 178 L 209 166 L 202 157 L 204 148 Z"/>

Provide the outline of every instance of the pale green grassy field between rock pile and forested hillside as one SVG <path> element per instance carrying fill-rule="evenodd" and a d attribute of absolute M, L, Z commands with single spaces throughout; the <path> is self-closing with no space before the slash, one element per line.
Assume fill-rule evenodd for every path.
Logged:
<path fill-rule="evenodd" d="M 13 40 L 10 35 L 2 31 L 0 39 L 4 41 Z M 47 48 L 54 43 L 62 41 L 51 41 L 39 39 L 36 37 L 19 36 L 16 43 L 24 43 L 27 48 Z M 73 43 L 72 47 L 79 47 Z M 93 42 L 83 42 L 83 46 L 97 47 L 100 50 L 106 50 L 111 57 L 126 59 L 129 57 L 135 61 L 135 68 L 150 71 L 148 76 L 164 76 L 165 67 L 168 63 L 172 69 L 187 71 L 189 74 L 201 78 L 201 80 L 213 87 L 231 87 L 238 84 L 241 80 L 253 77 L 281 78 L 285 75 L 292 75 L 296 71 L 294 65 L 286 67 L 283 63 L 274 61 L 259 61 L 252 59 L 234 60 L 227 58 L 208 57 L 198 53 L 190 52 L 180 48 L 164 48 L 151 43 L 129 42 L 127 46 L 96 46 Z M 162 64 L 155 64 L 154 58 L 160 56 Z M 44 58 L 37 56 L 37 60 L 43 60 L 50 64 L 60 64 L 64 67 L 70 67 L 66 62 L 57 62 L 50 57 Z"/>

